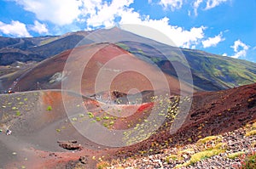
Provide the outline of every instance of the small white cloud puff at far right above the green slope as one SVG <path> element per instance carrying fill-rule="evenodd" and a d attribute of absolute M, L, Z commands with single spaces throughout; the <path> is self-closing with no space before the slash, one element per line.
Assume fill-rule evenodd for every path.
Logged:
<path fill-rule="evenodd" d="M 235 54 L 231 57 L 237 59 L 241 57 L 246 57 L 249 46 L 247 46 L 245 43 L 241 42 L 240 39 L 238 39 L 234 42 L 234 45 L 231 46 L 231 48 L 233 48 L 235 52 Z"/>

